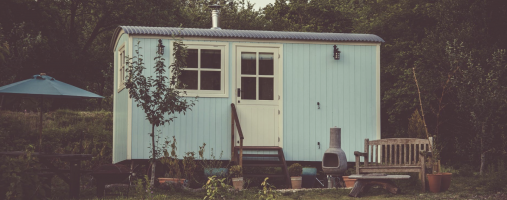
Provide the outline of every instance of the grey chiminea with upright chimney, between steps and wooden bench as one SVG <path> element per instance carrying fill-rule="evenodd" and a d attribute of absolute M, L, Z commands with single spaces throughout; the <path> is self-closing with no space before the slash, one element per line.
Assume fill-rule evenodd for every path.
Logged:
<path fill-rule="evenodd" d="M 322 171 L 328 175 L 328 187 L 331 188 L 331 182 L 335 182 L 333 176 L 339 177 L 347 171 L 347 156 L 341 148 L 341 128 L 334 127 L 330 129 L 329 148 L 324 152 L 322 157 Z M 333 179 L 333 181 L 331 181 Z"/>

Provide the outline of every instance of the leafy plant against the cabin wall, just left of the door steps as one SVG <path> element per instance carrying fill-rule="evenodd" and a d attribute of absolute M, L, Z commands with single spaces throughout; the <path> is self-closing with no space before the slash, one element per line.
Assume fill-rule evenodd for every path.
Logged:
<path fill-rule="evenodd" d="M 199 147 L 199 158 L 201 158 L 201 166 L 204 170 L 204 175 L 206 177 L 216 176 L 217 178 L 223 178 L 227 176 L 228 173 L 228 166 L 222 167 L 223 163 L 220 160 L 223 155 L 223 151 L 220 153 L 220 157 L 218 160 L 216 159 L 213 148 L 211 148 L 211 159 L 205 160 L 204 159 L 204 147 L 206 147 L 206 143 L 203 143 L 202 146 Z"/>

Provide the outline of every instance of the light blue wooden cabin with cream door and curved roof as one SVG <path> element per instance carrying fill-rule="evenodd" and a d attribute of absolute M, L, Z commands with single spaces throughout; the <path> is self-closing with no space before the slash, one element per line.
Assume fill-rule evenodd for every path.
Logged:
<path fill-rule="evenodd" d="M 231 132 L 231 104 L 243 131 L 244 154 L 249 146 L 277 147 L 287 161 L 321 162 L 329 129 L 337 126 L 348 162 L 354 162 L 353 152 L 364 149 L 365 138 L 380 139 L 384 41 L 376 35 L 120 26 L 111 42 L 113 163 L 150 156 L 151 126 L 122 84 L 125 55 L 133 56 L 140 42 L 150 75 L 159 39 L 166 65 L 173 61 L 171 35 L 188 46 L 182 81 L 188 98 L 198 96 L 192 111 L 159 128 L 164 137 L 176 136 L 181 157 L 206 143 L 207 158 L 213 148 L 215 155 L 223 151 L 222 160 L 236 159 L 233 144 L 239 146 L 240 138 L 237 130 Z"/>

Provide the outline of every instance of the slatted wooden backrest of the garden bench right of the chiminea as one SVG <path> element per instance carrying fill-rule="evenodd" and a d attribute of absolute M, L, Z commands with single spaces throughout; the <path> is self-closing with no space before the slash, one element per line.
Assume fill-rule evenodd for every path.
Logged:
<path fill-rule="evenodd" d="M 419 152 L 429 151 L 430 139 L 389 138 L 364 140 L 364 152 L 370 165 L 420 165 Z"/>

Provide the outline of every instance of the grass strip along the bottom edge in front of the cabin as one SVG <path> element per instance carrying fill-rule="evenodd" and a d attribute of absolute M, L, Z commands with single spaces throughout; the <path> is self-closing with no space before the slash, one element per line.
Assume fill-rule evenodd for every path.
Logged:
<path fill-rule="evenodd" d="M 396 181 L 401 189 L 401 193 L 392 195 L 381 188 L 372 188 L 367 193 L 363 193 L 361 199 L 507 199 L 507 189 L 504 186 L 502 192 L 487 192 L 482 186 L 483 178 L 479 176 L 460 177 L 453 176 L 451 187 L 446 192 L 441 193 L 421 193 L 420 185 L 415 181 L 405 180 Z M 247 190 L 230 192 L 227 199 L 259 199 L 256 194 L 260 191 L 260 187 L 250 187 Z M 56 190 L 56 191 L 55 191 Z M 58 191 L 59 190 L 59 191 Z M 301 191 L 285 191 L 278 193 L 277 199 L 355 199 L 349 197 L 350 189 L 306 189 Z M 53 199 L 67 199 L 67 190 L 65 187 L 53 189 Z M 106 199 L 127 199 L 125 190 L 118 190 L 116 196 L 106 196 Z M 81 190 L 81 199 L 97 199 L 95 198 L 95 188 L 83 188 Z M 156 189 L 148 199 L 203 199 L 206 195 L 204 190 L 193 189 L 173 189 L 161 190 Z M 131 188 L 129 199 L 141 199 Z"/>

